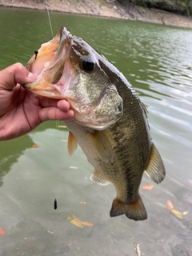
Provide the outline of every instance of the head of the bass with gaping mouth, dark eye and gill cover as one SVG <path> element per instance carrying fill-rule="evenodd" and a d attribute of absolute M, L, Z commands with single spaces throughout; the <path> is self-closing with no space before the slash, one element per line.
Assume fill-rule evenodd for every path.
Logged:
<path fill-rule="evenodd" d="M 104 130 L 122 118 L 123 102 L 102 62 L 106 58 L 62 27 L 27 63 L 38 79 L 23 87 L 45 97 L 66 99 L 76 122 Z"/>

